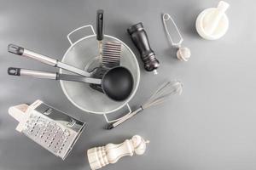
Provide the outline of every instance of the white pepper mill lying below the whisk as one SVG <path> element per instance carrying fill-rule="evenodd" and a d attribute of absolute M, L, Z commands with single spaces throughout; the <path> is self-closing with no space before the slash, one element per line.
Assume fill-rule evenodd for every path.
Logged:
<path fill-rule="evenodd" d="M 148 140 L 135 135 L 131 139 L 126 139 L 121 144 L 107 144 L 106 146 L 94 147 L 87 150 L 90 168 L 96 170 L 105 167 L 109 163 L 115 163 L 123 156 L 143 155 L 146 150 Z"/>

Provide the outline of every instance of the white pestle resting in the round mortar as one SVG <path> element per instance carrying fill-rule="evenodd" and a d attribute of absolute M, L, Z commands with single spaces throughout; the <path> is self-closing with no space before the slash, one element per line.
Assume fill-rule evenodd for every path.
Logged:
<path fill-rule="evenodd" d="M 218 7 L 212 14 L 209 14 L 209 18 L 207 19 L 207 23 L 205 24 L 205 32 L 208 35 L 212 35 L 213 31 L 215 31 L 218 27 L 218 23 L 223 17 L 225 11 L 230 7 L 229 3 L 225 3 L 224 1 L 220 1 L 218 3 Z M 206 16 L 207 17 L 207 16 Z"/>

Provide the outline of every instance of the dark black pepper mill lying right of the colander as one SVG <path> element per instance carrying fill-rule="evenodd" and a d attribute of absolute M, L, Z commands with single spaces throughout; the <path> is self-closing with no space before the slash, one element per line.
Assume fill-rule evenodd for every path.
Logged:
<path fill-rule="evenodd" d="M 141 54 L 145 70 L 154 71 L 154 74 L 157 74 L 156 69 L 159 67 L 160 63 L 155 58 L 154 51 L 150 48 L 147 32 L 143 28 L 143 23 L 140 22 L 133 25 L 128 28 L 127 31 L 131 36 L 132 42 L 134 42 Z"/>

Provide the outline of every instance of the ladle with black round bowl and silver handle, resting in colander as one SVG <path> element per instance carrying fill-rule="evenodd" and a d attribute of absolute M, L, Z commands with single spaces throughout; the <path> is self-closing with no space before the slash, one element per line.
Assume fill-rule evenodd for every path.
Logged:
<path fill-rule="evenodd" d="M 133 88 L 133 77 L 131 72 L 125 67 L 113 67 L 104 72 L 102 79 L 79 77 L 60 73 L 51 73 L 45 71 L 33 71 L 9 67 L 8 74 L 11 76 L 31 76 L 37 78 L 46 78 L 51 80 L 65 80 L 73 82 L 89 82 L 101 84 L 104 94 L 110 99 L 122 101 L 128 98 Z"/>

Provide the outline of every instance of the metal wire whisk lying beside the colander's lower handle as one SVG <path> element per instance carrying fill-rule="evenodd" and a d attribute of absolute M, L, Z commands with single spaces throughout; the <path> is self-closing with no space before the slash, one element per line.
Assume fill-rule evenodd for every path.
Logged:
<path fill-rule="evenodd" d="M 182 94 L 183 92 L 183 83 L 179 81 L 171 81 L 164 83 L 160 88 L 158 88 L 151 97 L 143 103 L 136 111 L 132 111 L 130 114 L 127 114 L 119 119 L 117 122 L 109 123 L 108 129 L 119 126 L 122 122 L 130 119 L 132 116 L 137 115 L 137 113 L 147 109 L 153 105 L 159 105 L 166 101 L 167 97 L 174 94 Z"/>

